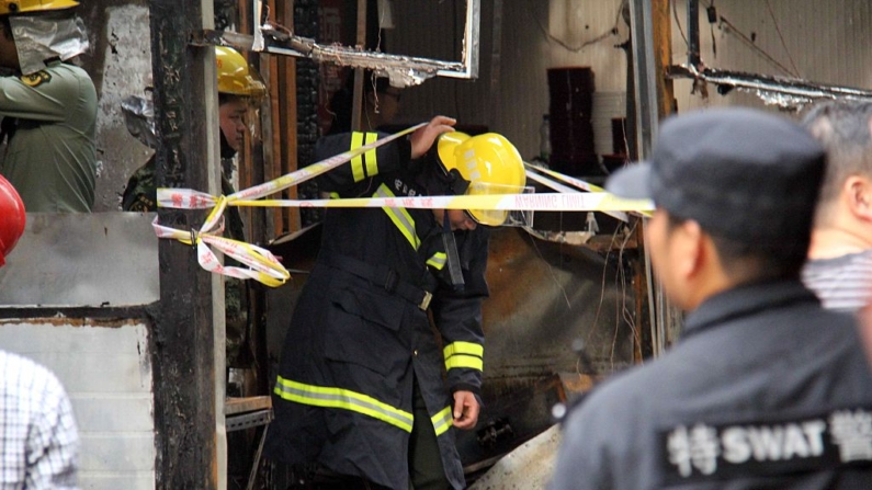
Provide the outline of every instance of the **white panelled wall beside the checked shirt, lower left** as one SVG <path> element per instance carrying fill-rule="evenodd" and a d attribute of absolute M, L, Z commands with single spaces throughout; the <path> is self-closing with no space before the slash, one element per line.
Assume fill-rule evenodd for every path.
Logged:
<path fill-rule="evenodd" d="M 52 369 L 72 402 L 81 441 L 79 485 L 155 488 L 155 422 L 146 326 L 57 318 L 0 321 L 0 349 Z"/>

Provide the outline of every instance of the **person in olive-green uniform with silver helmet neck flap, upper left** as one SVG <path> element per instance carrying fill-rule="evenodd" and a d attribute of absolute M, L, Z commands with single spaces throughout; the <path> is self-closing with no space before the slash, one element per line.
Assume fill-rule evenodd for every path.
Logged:
<path fill-rule="evenodd" d="M 88 49 L 72 0 L 0 0 L 0 163 L 29 212 L 89 213 L 97 180 L 97 90 L 71 64 Z"/>

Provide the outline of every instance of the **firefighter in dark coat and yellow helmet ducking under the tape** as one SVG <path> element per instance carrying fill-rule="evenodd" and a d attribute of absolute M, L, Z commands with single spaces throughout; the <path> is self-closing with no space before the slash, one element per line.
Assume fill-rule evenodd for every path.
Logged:
<path fill-rule="evenodd" d="M 453 124 L 438 116 L 408 140 L 325 174 L 319 186 L 341 197 L 520 192 L 517 149 L 496 134 L 445 133 Z M 438 150 L 424 155 L 440 134 Z M 317 156 L 377 137 L 326 137 Z M 327 487 L 316 477 L 304 488 L 464 488 L 452 428 L 474 428 L 479 410 L 488 295 L 488 230 L 479 225 L 506 218 L 389 207 L 326 213 L 317 264 L 287 331 L 265 451 L 354 482 Z"/>

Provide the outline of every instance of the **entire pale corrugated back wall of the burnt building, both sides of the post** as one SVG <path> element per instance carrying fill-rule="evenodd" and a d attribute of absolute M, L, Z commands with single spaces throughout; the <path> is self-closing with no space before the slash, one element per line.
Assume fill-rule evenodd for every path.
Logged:
<path fill-rule="evenodd" d="M 495 15 L 500 13 L 495 12 L 495 5 L 500 3 L 501 15 Z M 524 157 L 532 158 L 539 151 L 542 114 L 548 110 L 548 68 L 589 66 L 596 75 L 594 96 L 623 95 L 626 57 L 614 47 L 627 39 L 627 26 L 619 18 L 621 3 L 621 0 L 483 1 L 478 80 L 438 79 L 409 89 L 404 95 L 400 118 L 412 123 L 444 113 L 458 117 L 462 124 L 486 124 L 506 135 Z M 786 75 L 717 24 L 713 43 L 705 12 L 711 3 L 700 0 L 701 54 L 706 65 Z M 387 33 L 386 50 L 460 59 L 463 0 L 395 2 L 394 5 L 397 29 Z M 872 2 L 717 0 L 715 7 L 718 15 L 746 36 L 754 34 L 754 44 L 779 64 L 795 65 L 803 78 L 859 88 L 872 86 L 872 64 L 868 62 L 872 59 Z M 677 0 L 676 10 L 687 33 L 686 2 Z M 501 34 L 497 49 L 495 25 L 501 26 L 501 32 L 497 31 Z M 578 49 L 615 25 L 618 34 Z M 672 38 L 675 62 L 684 62 L 687 45 L 675 23 Z M 713 46 L 717 48 L 716 57 Z M 491 80 L 495 68 L 498 79 Z M 677 80 L 675 88 L 681 111 L 702 105 L 763 105 L 752 94 L 733 92 L 722 96 L 714 88 L 704 101 L 690 94 L 691 83 L 687 80 Z M 602 137 L 599 135 L 597 139 Z M 602 145 L 597 147 L 600 151 Z"/>

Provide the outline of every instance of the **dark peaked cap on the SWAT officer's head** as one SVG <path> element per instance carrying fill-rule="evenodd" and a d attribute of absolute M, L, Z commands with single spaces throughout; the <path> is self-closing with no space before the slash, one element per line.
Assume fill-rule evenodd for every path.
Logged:
<path fill-rule="evenodd" d="M 612 174 L 605 190 L 653 200 L 713 236 L 807 240 L 825 161 L 824 148 L 786 117 L 700 110 L 667 118 L 652 159 Z"/>

